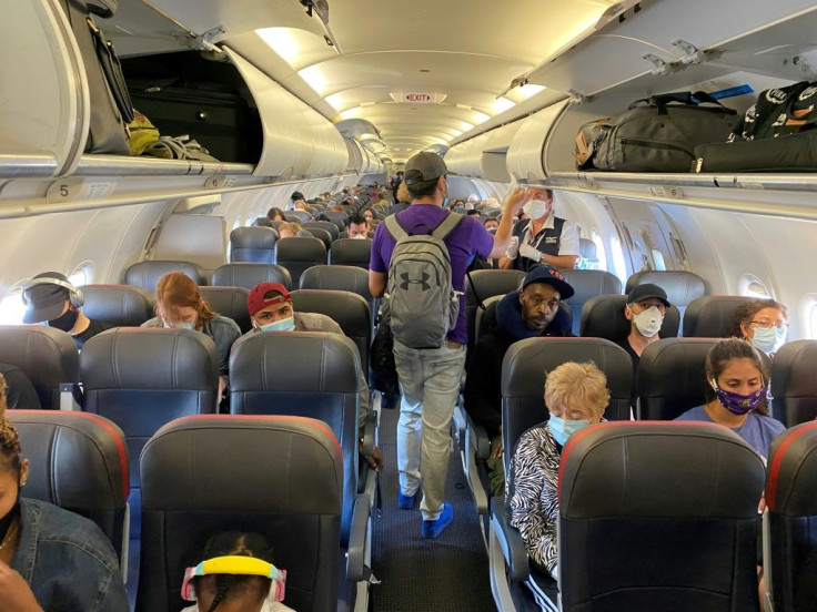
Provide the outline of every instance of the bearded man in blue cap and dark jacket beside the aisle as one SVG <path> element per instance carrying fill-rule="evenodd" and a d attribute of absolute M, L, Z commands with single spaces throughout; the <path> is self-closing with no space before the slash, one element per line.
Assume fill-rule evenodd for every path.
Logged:
<path fill-rule="evenodd" d="M 564 275 L 551 266 L 538 265 L 527 273 L 522 288 L 496 305 L 495 319 L 474 347 L 465 379 L 465 411 L 485 428 L 492 440 L 492 456 L 502 450 L 502 361 L 512 344 L 537 336 L 573 336 L 566 312 L 559 302 L 574 294 Z M 490 462 L 494 465 L 494 462 Z M 496 462 L 498 468 L 501 461 Z M 492 476 L 498 491 L 504 475 Z"/>

